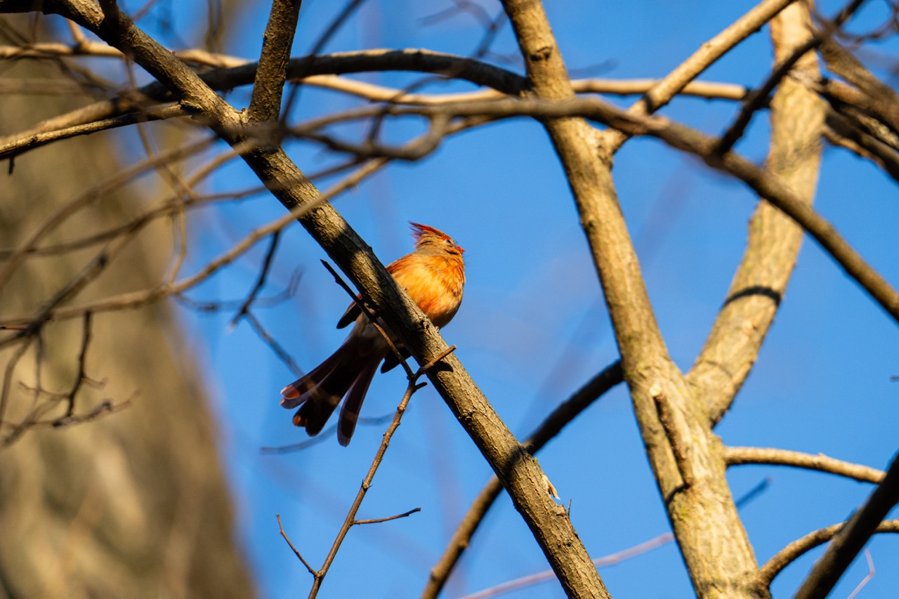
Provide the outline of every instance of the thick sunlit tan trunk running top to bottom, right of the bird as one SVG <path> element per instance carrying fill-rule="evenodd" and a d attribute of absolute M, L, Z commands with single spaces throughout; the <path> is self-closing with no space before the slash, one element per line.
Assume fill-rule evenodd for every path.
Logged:
<path fill-rule="evenodd" d="M 527 0 L 504 6 L 532 93 L 547 99 L 571 97 L 542 6 Z M 547 120 L 545 125 L 574 193 L 647 455 L 696 594 L 768 596 L 754 583 L 755 557 L 726 484 L 725 460 L 708 410 L 673 364 L 655 322 L 619 209 L 611 156 L 603 150 L 615 138 L 602 138 L 577 118 Z"/>

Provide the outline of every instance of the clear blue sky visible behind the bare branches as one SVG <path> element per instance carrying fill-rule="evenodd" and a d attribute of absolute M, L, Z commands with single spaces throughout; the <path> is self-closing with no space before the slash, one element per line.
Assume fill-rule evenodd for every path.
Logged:
<path fill-rule="evenodd" d="M 227 52 L 254 58 L 267 13 L 255 3 Z M 305 53 L 334 13 L 333 3 L 304 3 L 295 54 Z M 364 47 L 428 48 L 467 54 L 481 31 L 467 15 L 431 25 L 422 19 L 449 2 L 383 0 L 366 4 L 326 51 Z M 498 4 L 484 3 L 495 14 Z M 547 12 L 570 69 L 604 77 L 663 76 L 699 44 L 748 10 L 752 3 L 549 3 Z M 823 13 L 837 4 L 824 3 Z M 870 4 L 867 22 L 879 18 Z M 189 38 L 185 16 L 176 20 Z M 877 43 L 895 53 L 895 41 Z M 494 50 L 513 56 L 508 27 Z M 755 34 L 704 78 L 756 85 L 770 68 L 767 30 Z M 518 64 L 510 68 L 521 72 Z M 881 75 L 884 75 L 881 73 Z M 366 80 L 405 85 L 410 74 Z M 895 82 L 890 82 L 895 83 Z M 434 91 L 470 89 L 441 85 Z M 245 95 L 229 99 L 240 105 Z M 628 105 L 633 99 L 615 99 Z M 300 114 L 311 116 L 352 105 L 316 90 L 301 96 Z M 684 99 L 664 113 L 714 134 L 737 108 L 732 103 Z M 352 133 L 352 130 L 349 130 Z M 396 139 L 414 131 L 398 127 Z M 761 162 L 767 117 L 759 114 L 738 150 Z M 306 172 L 332 160 L 320 148 L 292 143 L 290 155 Z M 686 370 L 708 335 L 743 252 L 756 199 L 741 183 L 709 171 L 690 156 L 650 139 L 628 143 L 614 170 L 619 198 L 645 281 L 674 360 Z M 217 190 L 253 185 L 245 166 L 224 169 Z M 328 182 L 323 183 L 327 186 Z M 547 136 L 538 123 L 504 121 L 467 132 L 432 156 L 386 171 L 345 193 L 334 205 L 387 264 L 412 249 L 406 221 L 441 228 L 467 250 L 466 297 L 445 328 L 494 408 L 521 436 L 559 401 L 617 358 L 608 316 L 574 202 Z M 816 207 L 831 219 L 887 280 L 899 283 L 895 184 L 872 165 L 827 148 Z M 202 246 L 191 248 L 194 267 L 228 243 L 280 217 L 268 196 L 228 206 L 191 227 Z M 197 299 L 241 298 L 254 282 L 266 244 L 228 273 L 196 291 Z M 283 236 L 270 294 L 299 269 L 297 293 L 256 315 L 302 368 L 308 370 L 340 344 L 334 329 L 347 304 L 319 264 L 324 253 L 293 226 Z M 281 514 L 290 538 L 320 565 L 380 441 L 382 428 L 362 427 L 349 448 L 334 439 L 306 451 L 263 455 L 263 446 L 298 443 L 306 435 L 278 406 L 278 391 L 293 376 L 245 323 L 228 330 L 231 314 L 184 313 L 191 339 L 216 389 L 221 444 L 237 502 L 237 528 L 265 597 L 304 595 L 311 577 L 278 534 Z M 899 374 L 895 323 L 822 250 L 806 238 L 797 271 L 759 361 L 732 411 L 718 427 L 733 445 L 782 447 L 886 467 L 896 451 Z M 405 384 L 398 371 L 376 378 L 363 416 L 392 413 Z M 640 444 L 626 389 L 619 387 L 569 425 L 539 455 L 540 464 L 567 505 L 594 558 L 627 549 L 669 530 L 663 505 Z M 360 517 L 382 517 L 416 506 L 422 512 L 396 522 L 354 528 L 320 596 L 417 595 L 455 523 L 490 474 L 467 435 L 434 391 L 415 395 Z M 760 562 L 789 541 L 836 523 L 864 501 L 871 488 L 813 472 L 769 467 L 731 469 L 734 496 L 770 477 L 768 490 L 743 508 L 743 523 Z M 860 597 L 894 597 L 899 588 L 899 540 L 869 544 L 876 576 Z M 775 581 L 775 596 L 797 588 L 819 552 Z M 477 533 L 446 594 L 456 597 L 547 569 L 521 518 L 506 498 Z M 857 560 L 832 596 L 850 594 L 868 572 Z M 601 570 L 617 599 L 683 597 L 690 582 L 669 544 Z M 562 596 L 556 582 L 510 597 Z"/>

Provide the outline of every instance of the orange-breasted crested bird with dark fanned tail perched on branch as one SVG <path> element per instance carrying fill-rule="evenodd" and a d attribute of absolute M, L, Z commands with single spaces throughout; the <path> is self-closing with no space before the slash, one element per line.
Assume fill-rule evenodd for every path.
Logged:
<path fill-rule="evenodd" d="M 465 250 L 446 233 L 427 225 L 409 222 L 415 249 L 387 266 L 396 283 L 431 318 L 434 326 L 446 326 L 456 316 L 465 288 Z M 281 407 L 299 407 L 293 424 L 306 429 L 309 436 L 321 433 L 334 409 L 343 402 L 337 422 L 337 441 L 344 447 L 350 443 L 362 400 L 383 360 L 381 372 L 394 368 L 399 359 L 387 340 L 371 324 L 358 304 L 337 321 L 337 328 L 354 322 L 350 335 L 337 351 L 316 368 L 281 389 Z M 378 320 L 378 324 L 382 323 Z M 395 341 L 405 357 L 409 353 Z"/>

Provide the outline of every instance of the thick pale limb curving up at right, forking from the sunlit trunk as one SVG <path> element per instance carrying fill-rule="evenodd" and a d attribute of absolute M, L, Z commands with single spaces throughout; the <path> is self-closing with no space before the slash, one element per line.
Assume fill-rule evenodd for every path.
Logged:
<path fill-rule="evenodd" d="M 816 77 L 820 72 L 814 52 L 801 52 L 810 45 L 810 21 L 805 2 L 791 4 L 771 22 L 771 39 L 776 62 L 788 62 L 795 71 Z M 797 200 L 811 205 L 821 164 L 824 104 L 792 79 L 779 83 L 770 103 L 768 169 L 796 193 Z M 727 145 L 719 142 L 718 148 Z M 759 202 L 727 299 L 687 374 L 708 406 L 713 425 L 733 404 L 752 370 L 793 273 L 802 238 L 796 222 L 770 203 Z"/>

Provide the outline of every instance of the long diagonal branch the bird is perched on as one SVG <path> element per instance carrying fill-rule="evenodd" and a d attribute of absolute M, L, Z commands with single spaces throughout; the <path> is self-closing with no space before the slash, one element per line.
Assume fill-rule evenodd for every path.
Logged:
<path fill-rule="evenodd" d="M 79 23 L 132 56 L 182 98 L 182 103 L 186 100 L 222 139 L 240 148 L 246 164 L 271 193 L 289 210 L 302 212 L 299 222 L 347 273 L 420 364 L 432 362 L 448 350 L 431 321 L 397 287 L 370 247 L 331 204 L 318 203 L 320 193 L 315 185 L 281 148 L 248 146 L 246 142 L 252 137 L 236 111 L 127 17 L 104 26 L 102 13 L 87 0 L 60 0 L 60 5 L 76 15 Z M 308 205 L 315 208 L 304 210 Z M 565 508 L 556 505 L 547 493 L 546 474 L 496 415 L 461 362 L 450 354 L 428 370 L 428 378 L 509 491 L 565 590 L 580 596 L 608 596 Z"/>

